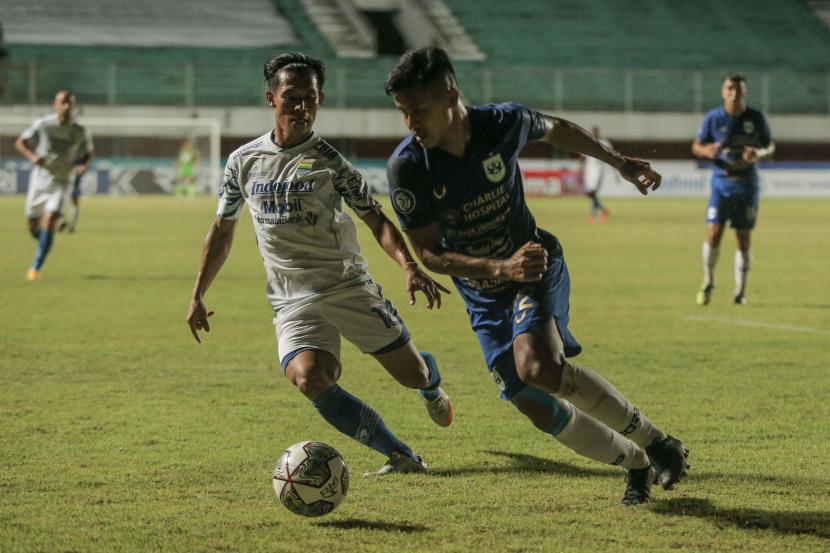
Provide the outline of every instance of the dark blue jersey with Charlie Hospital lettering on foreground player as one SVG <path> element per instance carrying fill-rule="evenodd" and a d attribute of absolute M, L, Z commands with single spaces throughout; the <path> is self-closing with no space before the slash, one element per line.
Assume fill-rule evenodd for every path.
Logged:
<path fill-rule="evenodd" d="M 438 223 L 445 248 L 473 257 L 508 258 L 528 241 L 550 241 L 527 207 L 518 166 L 525 144 L 544 136 L 543 116 L 515 103 L 467 109 L 471 138 L 462 157 L 426 150 L 410 135 L 389 158 L 389 190 L 401 226 Z M 515 284 L 453 281 L 468 303 L 486 303 Z"/>

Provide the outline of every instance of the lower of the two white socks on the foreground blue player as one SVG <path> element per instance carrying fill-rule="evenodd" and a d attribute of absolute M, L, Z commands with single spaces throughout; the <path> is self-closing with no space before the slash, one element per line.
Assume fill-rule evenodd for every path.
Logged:
<path fill-rule="evenodd" d="M 554 436 L 562 445 L 594 461 L 641 469 L 649 464 L 641 447 L 571 406 L 571 420 Z"/>

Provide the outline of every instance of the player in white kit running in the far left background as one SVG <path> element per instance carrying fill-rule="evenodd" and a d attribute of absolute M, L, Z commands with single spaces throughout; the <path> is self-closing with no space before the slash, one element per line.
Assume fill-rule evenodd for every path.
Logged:
<path fill-rule="evenodd" d="M 86 172 L 92 157 L 92 140 L 72 117 L 75 96 L 61 90 L 53 105 L 55 114 L 35 120 L 14 143 L 34 165 L 26 196 L 29 232 L 38 241 L 35 259 L 26 273 L 30 282 L 41 277 L 71 180 Z"/>

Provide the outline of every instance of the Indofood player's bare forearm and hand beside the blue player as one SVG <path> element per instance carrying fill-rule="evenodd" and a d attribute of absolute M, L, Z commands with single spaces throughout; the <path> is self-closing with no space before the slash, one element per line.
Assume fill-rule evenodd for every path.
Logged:
<path fill-rule="evenodd" d="M 403 235 L 389 217 L 380 209 L 373 209 L 362 214 L 360 218 L 371 229 L 383 251 L 404 270 L 409 305 L 415 304 L 415 292 L 420 290 L 429 302 L 429 309 L 432 309 L 433 305 L 440 309 L 441 292 L 449 294 L 450 291 L 421 269 L 418 262 L 413 259 Z"/>

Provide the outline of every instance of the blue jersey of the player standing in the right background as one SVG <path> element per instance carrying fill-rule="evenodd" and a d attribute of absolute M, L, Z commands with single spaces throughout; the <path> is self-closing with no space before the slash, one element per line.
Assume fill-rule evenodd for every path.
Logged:
<path fill-rule="evenodd" d="M 723 106 L 706 114 L 697 139 L 702 144 L 718 142 L 721 145 L 712 168 L 713 177 L 716 177 L 712 182 L 731 183 L 733 186 L 757 183 L 755 164 L 747 163 L 742 158 L 744 146 L 766 148 L 772 143 L 769 125 L 760 111 L 746 108 L 733 117 L 726 113 Z M 728 180 L 718 177 L 727 177 Z"/>

